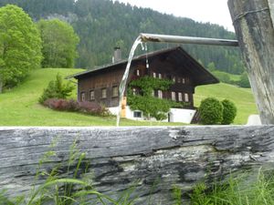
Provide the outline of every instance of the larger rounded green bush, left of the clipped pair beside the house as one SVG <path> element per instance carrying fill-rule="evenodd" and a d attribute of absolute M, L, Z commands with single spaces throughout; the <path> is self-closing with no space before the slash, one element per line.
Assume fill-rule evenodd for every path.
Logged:
<path fill-rule="evenodd" d="M 223 120 L 223 105 L 214 97 L 207 97 L 202 100 L 199 112 L 201 122 L 204 125 L 218 125 Z"/>

